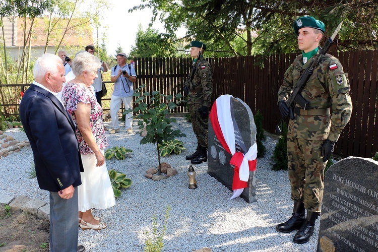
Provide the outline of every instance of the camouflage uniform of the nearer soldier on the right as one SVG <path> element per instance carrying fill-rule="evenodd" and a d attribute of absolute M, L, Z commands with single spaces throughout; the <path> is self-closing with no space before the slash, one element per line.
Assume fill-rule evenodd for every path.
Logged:
<path fill-rule="evenodd" d="M 311 58 L 306 64 L 302 63 L 302 58 L 302 55 L 297 56 L 285 72 L 278 102 L 288 99 L 299 77 L 311 64 Z M 320 212 L 323 198 L 327 161 L 321 158 L 322 145 L 326 139 L 336 142 L 348 123 L 352 112 L 349 91 L 348 76 L 340 61 L 326 54 L 300 93 L 309 102 L 308 110 L 299 110 L 296 104 L 295 118 L 289 120 L 287 159 L 291 199 L 303 202 L 305 209 L 312 212 Z M 311 115 L 305 115 L 306 112 Z"/>

